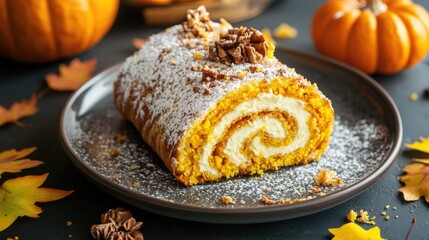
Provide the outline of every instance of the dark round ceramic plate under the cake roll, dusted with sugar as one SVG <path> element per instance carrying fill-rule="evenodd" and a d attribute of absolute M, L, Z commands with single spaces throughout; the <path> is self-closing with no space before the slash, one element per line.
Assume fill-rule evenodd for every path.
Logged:
<path fill-rule="evenodd" d="M 214 223 L 255 223 L 308 215 L 357 195 L 379 179 L 400 147 L 402 124 L 389 95 L 369 76 L 338 62 L 292 50 L 277 57 L 317 83 L 335 109 L 335 128 L 319 162 L 262 176 L 184 187 L 113 105 L 114 66 L 80 88 L 65 105 L 62 140 L 73 164 L 113 196 L 162 215 Z M 125 137 L 118 141 L 115 136 Z M 314 193 L 320 169 L 334 170 L 339 187 Z M 219 200 L 230 196 L 235 204 Z M 293 204 L 272 200 L 308 199 Z"/>

